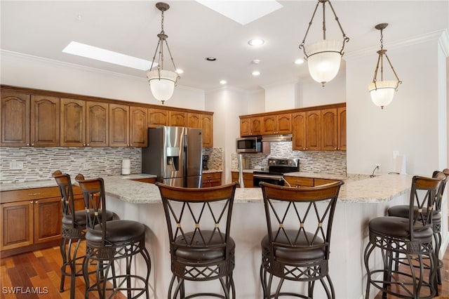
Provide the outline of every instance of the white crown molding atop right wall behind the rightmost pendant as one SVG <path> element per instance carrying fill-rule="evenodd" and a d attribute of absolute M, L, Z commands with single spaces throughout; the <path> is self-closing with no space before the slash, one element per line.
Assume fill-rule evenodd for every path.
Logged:
<path fill-rule="evenodd" d="M 384 46 L 387 46 L 389 50 L 394 50 L 397 48 L 406 48 L 408 46 L 422 44 L 427 41 L 438 41 L 438 39 L 441 36 L 441 32 L 447 32 L 447 30 L 448 29 L 436 30 L 434 32 L 429 32 L 427 34 L 413 36 L 409 39 L 402 39 L 400 41 L 394 41 L 389 44 L 384 44 Z M 358 51 L 344 53 L 344 59 L 351 60 L 351 59 L 355 59 L 355 58 L 365 57 L 366 55 L 371 55 L 371 54 L 375 53 L 377 50 L 379 50 L 379 46 L 364 48 L 364 49 L 361 49 Z"/>

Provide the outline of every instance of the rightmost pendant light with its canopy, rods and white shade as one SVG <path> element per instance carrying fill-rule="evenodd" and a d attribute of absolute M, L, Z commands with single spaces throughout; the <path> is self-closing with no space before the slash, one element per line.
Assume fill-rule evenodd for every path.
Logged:
<path fill-rule="evenodd" d="M 398 90 L 399 84 L 402 83 L 402 81 L 399 80 L 393 65 L 391 65 L 391 61 L 387 56 L 387 50 L 384 50 L 383 30 L 387 26 L 388 23 L 377 24 L 375 26 L 375 29 L 380 30 L 380 50 L 377 51 L 379 57 L 377 58 L 377 65 L 374 71 L 373 82 L 371 82 L 368 85 L 371 100 L 373 100 L 375 105 L 380 106 L 381 109 L 384 109 L 384 106 L 389 105 L 389 103 L 393 100 L 394 92 Z M 385 58 L 387 58 L 388 64 L 391 67 L 391 70 L 393 71 L 396 80 L 384 80 L 384 56 Z M 380 65 L 380 81 L 377 81 L 377 71 L 379 70 L 379 65 Z"/>

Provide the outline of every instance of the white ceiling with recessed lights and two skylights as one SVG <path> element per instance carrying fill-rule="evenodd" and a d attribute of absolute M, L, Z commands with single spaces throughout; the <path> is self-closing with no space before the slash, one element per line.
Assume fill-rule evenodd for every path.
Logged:
<path fill-rule="evenodd" d="M 260 1 L 253 2 L 257 5 Z M 164 15 L 168 44 L 176 66 L 185 71 L 178 84 L 208 91 L 220 88 L 219 81 L 225 79 L 228 86 L 251 91 L 281 81 L 309 80 L 307 63 L 294 65 L 293 61 L 303 57 L 298 46 L 316 1 L 279 1 L 282 8 L 247 25 L 196 1 L 166 3 L 170 5 Z M 1 49 L 145 78 L 145 71 L 77 57 L 62 53 L 62 49 L 70 41 L 78 41 L 151 61 L 158 41 L 156 34 L 161 31 L 161 13 L 155 4 L 156 1 L 1 0 Z M 333 0 L 332 4 L 350 39 L 345 53 L 373 51 L 373 71 L 375 51 L 380 47 L 380 32 L 374 28 L 378 23 L 389 23 L 384 30 L 387 49 L 389 44 L 449 28 L 449 0 Z M 308 42 L 321 39 L 319 9 Z M 326 14 L 326 38 L 335 33 L 340 38 L 329 8 Z M 265 44 L 258 48 L 248 46 L 248 40 L 255 37 L 264 39 Z M 208 56 L 217 60 L 206 61 Z M 389 58 L 393 64 L 394 56 L 391 49 Z M 259 65 L 251 64 L 255 59 L 260 60 Z M 255 69 L 261 72 L 259 77 L 251 75 Z M 401 70 L 396 71 L 400 77 Z"/>

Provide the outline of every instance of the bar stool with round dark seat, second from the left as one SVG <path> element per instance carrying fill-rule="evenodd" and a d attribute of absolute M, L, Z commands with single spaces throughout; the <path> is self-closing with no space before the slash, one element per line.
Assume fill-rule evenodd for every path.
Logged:
<path fill-rule="evenodd" d="M 145 248 L 145 225 L 133 220 L 106 221 L 104 218 L 98 218 L 106 209 L 105 182 L 102 178 L 84 180 L 82 175 L 76 176 L 75 179 L 83 192 L 88 215 L 86 258 L 83 260 L 86 299 L 90 291 L 98 291 L 100 298 L 106 298 L 107 291 L 111 292 L 109 298 L 113 298 L 119 291 L 126 291 L 128 298 L 140 298 L 145 293 L 148 299 L 151 262 Z M 138 264 L 146 267 L 144 277 L 131 273 L 133 259 L 139 254 L 143 263 Z M 122 260 L 125 262 L 125 273 L 116 274 L 114 263 Z M 88 271 L 91 263 L 96 264 L 96 279 L 93 284 Z"/>

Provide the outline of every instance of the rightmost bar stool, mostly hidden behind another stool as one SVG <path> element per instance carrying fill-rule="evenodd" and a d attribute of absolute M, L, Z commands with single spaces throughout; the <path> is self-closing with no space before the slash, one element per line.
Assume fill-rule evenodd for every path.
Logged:
<path fill-rule="evenodd" d="M 441 284 L 441 268 L 443 267 L 443 260 L 439 259 L 440 256 L 440 248 L 441 248 L 441 204 L 443 202 L 443 194 L 445 190 L 445 186 L 449 180 L 449 169 L 445 168 L 442 171 L 446 178 L 441 182 L 440 189 L 438 190 L 438 194 L 436 197 L 436 202 L 434 206 L 434 210 L 432 212 L 432 228 L 434 230 L 434 251 L 435 255 L 438 258 L 438 267 L 436 267 L 436 280 L 438 284 Z M 439 171 L 434 171 L 432 174 L 432 178 L 436 178 L 436 175 L 440 173 Z M 396 216 L 396 217 L 402 217 L 402 218 L 408 218 L 408 214 L 410 211 L 410 206 L 407 205 L 398 205 L 398 206 L 391 206 L 391 208 L 388 209 L 388 215 L 389 216 Z M 417 213 L 417 207 L 414 207 L 414 214 Z M 398 258 L 398 255 L 396 255 L 395 259 L 395 270 L 398 270 L 398 265 L 400 263 L 400 260 Z M 436 290 L 438 295 L 438 289 Z"/>

